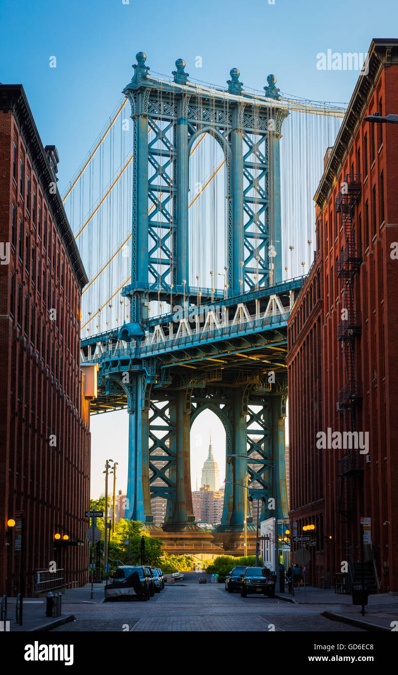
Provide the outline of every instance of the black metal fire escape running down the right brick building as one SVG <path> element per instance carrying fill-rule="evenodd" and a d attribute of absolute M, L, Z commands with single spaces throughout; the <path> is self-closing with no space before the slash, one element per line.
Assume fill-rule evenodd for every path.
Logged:
<path fill-rule="evenodd" d="M 338 328 L 338 340 L 342 344 L 345 379 L 339 391 L 337 409 L 342 412 L 345 431 L 354 432 L 356 408 L 362 404 L 362 387 L 355 368 L 355 337 L 361 334 L 362 317 L 355 306 L 354 276 L 362 263 L 361 245 L 355 242 L 353 209 L 361 194 L 359 174 L 347 173 L 337 194 L 336 212 L 341 214 L 345 246 L 337 261 L 337 277 L 343 286 L 344 309 Z M 355 485 L 362 477 L 363 468 L 358 448 L 349 448 L 339 460 L 339 499 L 337 511 L 343 522 L 353 513 Z"/>

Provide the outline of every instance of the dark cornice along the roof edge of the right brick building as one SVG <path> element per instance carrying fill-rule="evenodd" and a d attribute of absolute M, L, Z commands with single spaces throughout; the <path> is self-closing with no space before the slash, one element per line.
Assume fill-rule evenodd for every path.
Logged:
<path fill-rule="evenodd" d="M 337 134 L 328 163 L 314 196 L 314 201 L 321 211 L 324 211 L 328 203 L 382 68 L 393 64 L 398 64 L 398 39 L 374 38 L 368 51 L 368 60 L 365 62 L 365 66 L 368 65 L 368 68 L 366 68 L 368 73 L 359 74 L 343 124 Z"/>

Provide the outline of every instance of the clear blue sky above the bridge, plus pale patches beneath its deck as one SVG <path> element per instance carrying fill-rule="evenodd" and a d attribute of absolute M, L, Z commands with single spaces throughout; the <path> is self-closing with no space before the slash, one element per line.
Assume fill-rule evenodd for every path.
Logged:
<path fill-rule="evenodd" d="M 366 53 L 372 37 L 394 37 L 398 3 L 1 0 L 0 26 L 0 80 L 24 85 L 43 144 L 57 146 L 63 192 L 132 77 L 137 51 L 145 51 L 151 71 L 162 74 L 182 57 L 186 72 L 206 82 L 225 84 L 237 67 L 247 88 L 262 89 L 273 73 L 282 92 L 348 102 L 357 72 L 319 71 L 317 54 Z M 52 56 L 57 68 L 49 68 Z M 201 68 L 195 68 L 198 56 Z M 207 455 L 210 426 L 216 460 L 224 466 L 224 433 L 209 417 L 193 483 Z M 109 445 L 120 461 L 118 488 L 124 490 L 127 414 L 101 415 L 92 430 L 93 494 L 101 491 Z"/>

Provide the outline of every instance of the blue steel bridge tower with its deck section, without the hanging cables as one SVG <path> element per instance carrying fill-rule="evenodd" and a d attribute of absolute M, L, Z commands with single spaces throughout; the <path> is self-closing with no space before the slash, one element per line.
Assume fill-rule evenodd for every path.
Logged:
<path fill-rule="evenodd" d="M 236 69 L 228 90 L 216 90 L 191 84 L 181 59 L 174 81 L 150 76 L 145 58 L 137 54 L 124 89 L 134 120 L 132 277 L 123 290 L 131 319 L 82 340 L 82 360 L 99 364 L 91 411 L 126 407 L 129 413 L 126 517 L 159 529 L 151 497 L 165 497 L 163 529 L 189 532 L 200 530 L 191 495 L 190 429 L 203 410 L 212 410 L 226 433 L 218 531 L 239 534 L 245 499 L 256 497 L 257 488 L 264 497 L 261 519 L 276 515 L 272 462 L 278 518 L 288 511 L 286 325 L 302 284 L 301 278 L 282 282 L 279 140 L 288 112 L 273 76 L 258 97 L 243 91 Z M 187 284 L 188 172 L 193 144 L 205 132 L 224 151 L 230 296 L 201 289 L 201 301 L 211 298 L 211 305 L 198 308 L 199 289 Z M 170 303 L 171 313 L 149 318 L 149 302 L 159 298 Z M 248 518 L 248 528 L 254 527 Z"/>

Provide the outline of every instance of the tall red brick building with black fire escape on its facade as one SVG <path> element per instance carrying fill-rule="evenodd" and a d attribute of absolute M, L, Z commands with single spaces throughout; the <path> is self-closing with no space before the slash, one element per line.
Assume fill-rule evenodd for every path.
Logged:
<path fill-rule="evenodd" d="M 397 40 L 372 41 L 315 195 L 316 260 L 288 323 L 291 521 L 316 525 L 323 586 L 343 561 L 357 574 L 371 518 L 368 580 L 398 591 L 398 126 L 374 112 L 398 113 Z"/>

